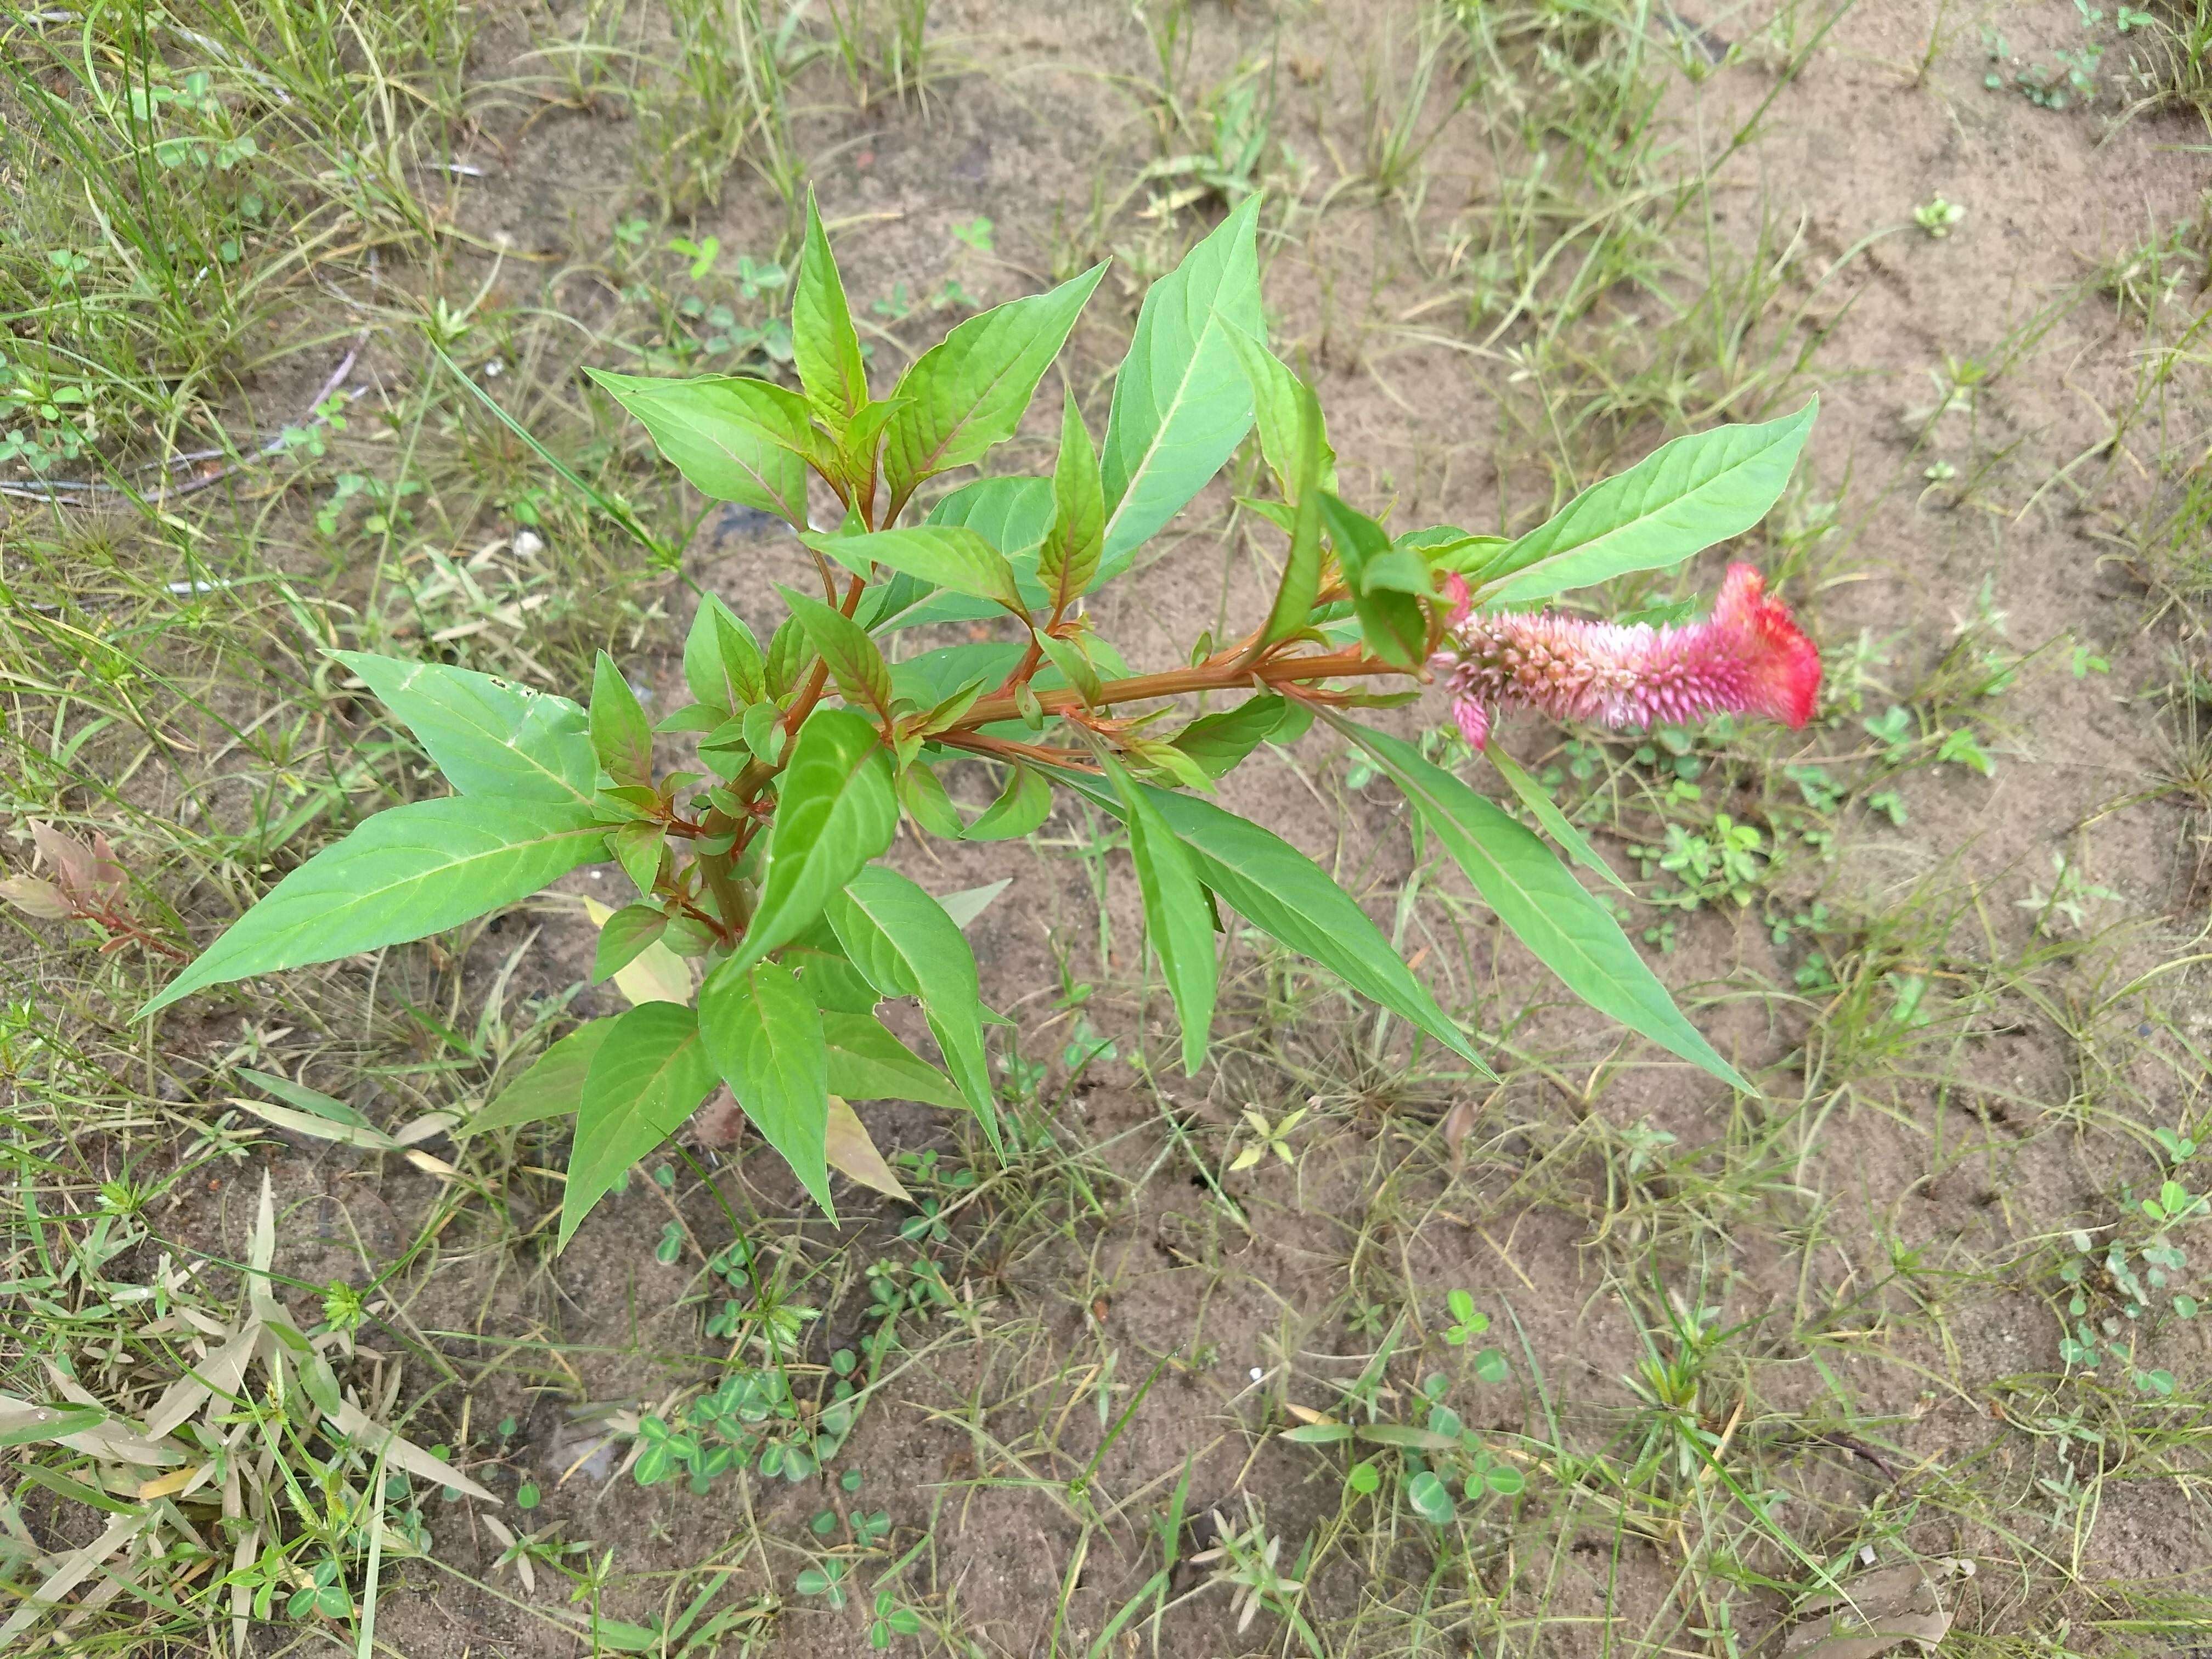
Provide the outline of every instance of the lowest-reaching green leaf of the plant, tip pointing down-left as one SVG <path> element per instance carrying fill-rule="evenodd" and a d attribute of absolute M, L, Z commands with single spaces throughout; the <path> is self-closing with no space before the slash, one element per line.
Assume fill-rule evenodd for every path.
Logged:
<path fill-rule="evenodd" d="M 712 1086 L 699 1020 L 681 1002 L 639 1002 L 608 1022 L 584 1073 L 555 1250 L 568 1248 L 624 1170 L 675 1135 Z"/>

